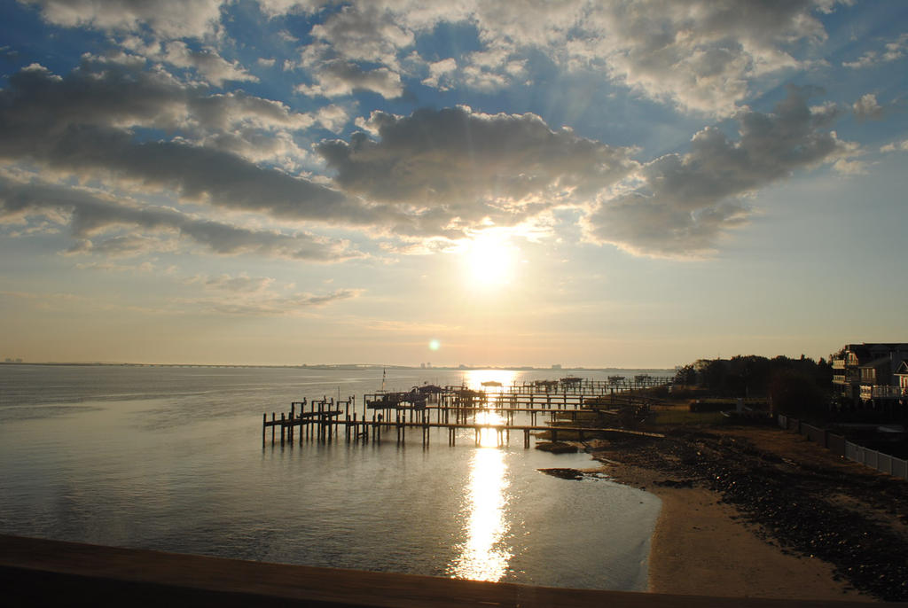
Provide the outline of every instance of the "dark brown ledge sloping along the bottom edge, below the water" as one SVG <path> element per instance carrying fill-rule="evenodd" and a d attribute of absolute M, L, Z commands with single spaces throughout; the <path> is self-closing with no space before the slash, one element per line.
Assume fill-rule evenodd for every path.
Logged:
<path fill-rule="evenodd" d="M 478 583 L 5 535 L 0 535 L 0 593 L 0 604 L 4 606 L 866 606 L 852 602 L 706 598 Z"/>

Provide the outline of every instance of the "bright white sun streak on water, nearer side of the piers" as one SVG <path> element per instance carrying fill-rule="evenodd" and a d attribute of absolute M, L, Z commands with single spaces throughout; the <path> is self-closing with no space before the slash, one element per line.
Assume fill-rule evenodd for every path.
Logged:
<path fill-rule="evenodd" d="M 449 566 L 453 577 L 494 583 L 508 572 L 508 562 L 513 554 L 504 542 L 508 534 L 505 517 L 507 472 L 503 450 L 479 447 L 473 452 L 468 503 L 463 510 L 467 539 L 459 544 L 459 554 Z"/>

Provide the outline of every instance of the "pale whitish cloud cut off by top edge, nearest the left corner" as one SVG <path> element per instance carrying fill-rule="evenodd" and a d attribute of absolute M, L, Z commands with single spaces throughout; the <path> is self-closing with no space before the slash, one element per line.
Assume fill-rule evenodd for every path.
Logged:
<path fill-rule="evenodd" d="M 36 5 L 44 21 L 64 27 L 138 32 L 165 39 L 202 38 L 221 21 L 222 0 L 19 0 Z"/>

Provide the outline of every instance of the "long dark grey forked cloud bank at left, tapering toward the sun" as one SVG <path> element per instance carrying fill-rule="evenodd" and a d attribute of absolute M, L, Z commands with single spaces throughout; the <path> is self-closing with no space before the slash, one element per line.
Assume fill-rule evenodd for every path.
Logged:
<path fill-rule="evenodd" d="M 163 74 L 124 69 L 118 75 L 111 68 L 101 78 L 79 71 L 61 78 L 26 69 L 0 91 L 0 158 L 285 220 L 360 226 L 381 220 L 374 205 L 234 153 L 180 140 L 143 141 L 124 128 L 213 128 L 238 117 L 260 125 L 311 121 L 241 94 L 203 97 Z"/>

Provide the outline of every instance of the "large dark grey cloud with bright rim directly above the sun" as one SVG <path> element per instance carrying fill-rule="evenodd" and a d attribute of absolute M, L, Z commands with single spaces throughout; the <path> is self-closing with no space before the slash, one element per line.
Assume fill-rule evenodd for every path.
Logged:
<path fill-rule="evenodd" d="M 592 196 L 623 178 L 634 152 L 553 131 L 535 114 L 483 114 L 468 107 L 419 110 L 408 117 L 374 112 L 350 142 L 316 151 L 342 190 L 370 201 L 410 205 L 417 226 L 438 234 L 490 219 L 513 225 Z M 397 230 L 408 230 L 398 226 Z"/>

